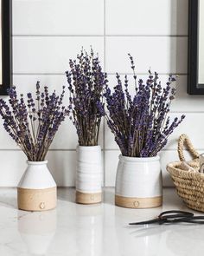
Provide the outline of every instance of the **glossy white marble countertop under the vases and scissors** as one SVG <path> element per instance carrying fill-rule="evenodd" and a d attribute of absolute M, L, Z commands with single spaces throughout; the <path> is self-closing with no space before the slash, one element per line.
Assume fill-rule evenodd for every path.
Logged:
<path fill-rule="evenodd" d="M 163 194 L 163 207 L 126 209 L 114 206 L 113 188 L 92 206 L 75 204 L 74 189 L 61 188 L 57 209 L 29 213 L 16 209 L 16 189 L 0 188 L 0 255 L 203 255 L 204 225 L 128 226 L 165 210 L 188 210 L 173 188 Z"/>

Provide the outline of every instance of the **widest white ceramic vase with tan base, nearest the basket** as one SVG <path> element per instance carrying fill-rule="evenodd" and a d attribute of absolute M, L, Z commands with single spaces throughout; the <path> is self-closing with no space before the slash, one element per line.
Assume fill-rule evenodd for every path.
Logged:
<path fill-rule="evenodd" d="M 163 182 L 159 156 L 119 155 L 115 204 L 119 207 L 149 208 L 163 203 Z"/>

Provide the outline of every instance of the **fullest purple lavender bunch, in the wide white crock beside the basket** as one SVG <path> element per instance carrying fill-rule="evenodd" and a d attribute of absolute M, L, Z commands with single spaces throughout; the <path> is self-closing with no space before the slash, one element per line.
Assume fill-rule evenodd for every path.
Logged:
<path fill-rule="evenodd" d="M 131 55 L 131 69 L 135 83 L 135 95 L 132 97 L 128 90 L 128 78 L 124 76 L 124 89 L 117 74 L 117 85 L 113 89 L 106 86 L 105 99 L 108 114 L 102 105 L 99 106 L 101 115 L 105 115 L 107 124 L 115 136 L 115 141 L 124 156 L 150 157 L 167 144 L 168 137 L 182 122 L 175 117 L 170 121 L 168 116 L 172 100 L 175 98 L 175 88 L 172 82 L 175 76 L 169 75 L 166 87 L 158 82 L 158 74 L 151 74 L 144 83 L 137 82 L 135 64 Z"/>

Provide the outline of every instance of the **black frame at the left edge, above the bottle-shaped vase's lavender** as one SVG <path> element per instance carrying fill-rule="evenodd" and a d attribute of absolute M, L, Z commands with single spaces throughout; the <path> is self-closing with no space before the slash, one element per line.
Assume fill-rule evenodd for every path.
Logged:
<path fill-rule="evenodd" d="M 0 95 L 8 95 L 12 84 L 12 0 L 0 0 L 1 4 L 1 70 Z"/>

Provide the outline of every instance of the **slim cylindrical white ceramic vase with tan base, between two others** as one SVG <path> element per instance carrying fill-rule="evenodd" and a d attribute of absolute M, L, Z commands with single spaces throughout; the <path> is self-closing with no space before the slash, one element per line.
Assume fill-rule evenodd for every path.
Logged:
<path fill-rule="evenodd" d="M 101 202 L 102 167 L 100 146 L 78 146 L 76 170 L 76 202 Z"/>

